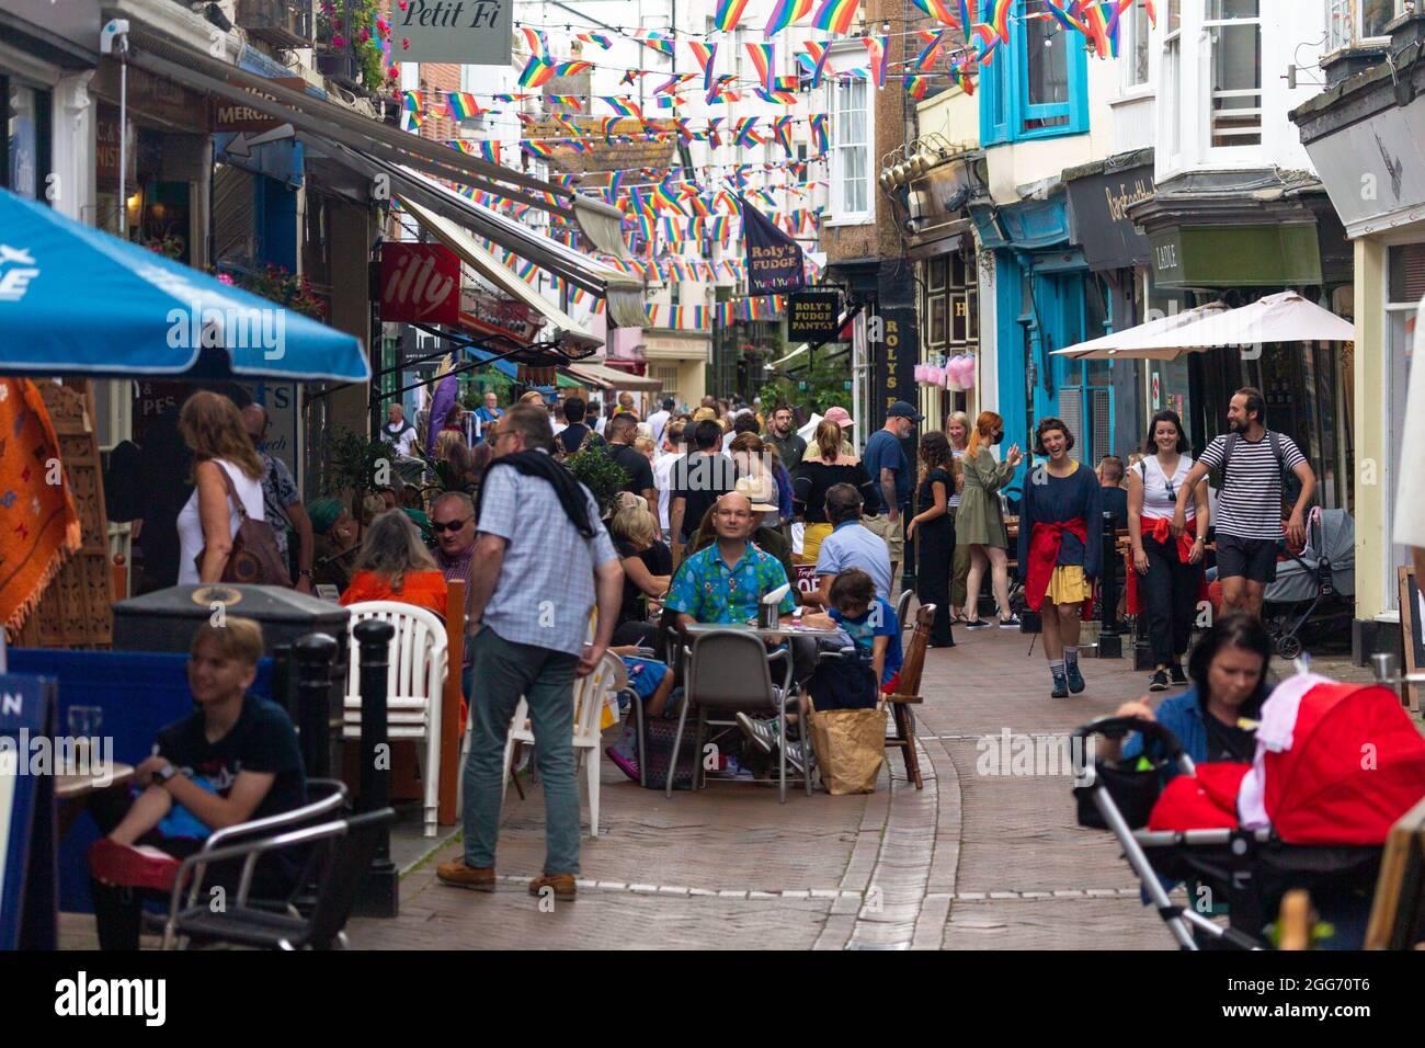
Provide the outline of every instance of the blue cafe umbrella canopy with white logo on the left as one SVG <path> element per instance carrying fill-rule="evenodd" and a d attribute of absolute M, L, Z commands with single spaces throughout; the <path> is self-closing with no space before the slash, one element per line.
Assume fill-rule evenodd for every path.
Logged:
<path fill-rule="evenodd" d="M 0 374 L 365 382 L 361 341 L 0 190 Z"/>

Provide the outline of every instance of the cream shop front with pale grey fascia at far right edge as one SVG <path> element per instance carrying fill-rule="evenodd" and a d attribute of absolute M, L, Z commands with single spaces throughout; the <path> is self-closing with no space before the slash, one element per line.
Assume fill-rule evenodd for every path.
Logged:
<path fill-rule="evenodd" d="M 1425 14 L 1392 23 L 1391 51 L 1425 37 Z M 1357 472 L 1355 623 L 1358 662 L 1398 652 L 1399 572 L 1394 539 L 1401 441 L 1415 315 L 1425 298 L 1425 66 L 1379 63 L 1291 114 L 1354 248 L 1355 346 L 1351 439 Z M 1341 312 L 1341 311 L 1338 311 Z"/>

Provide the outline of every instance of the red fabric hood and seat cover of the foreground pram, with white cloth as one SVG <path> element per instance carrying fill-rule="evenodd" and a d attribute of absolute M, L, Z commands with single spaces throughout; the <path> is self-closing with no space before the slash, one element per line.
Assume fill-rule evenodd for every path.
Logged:
<path fill-rule="evenodd" d="M 1425 739 L 1396 694 L 1301 674 L 1263 704 L 1253 764 L 1178 776 L 1149 828 L 1270 826 L 1288 844 L 1384 844 L 1421 797 Z"/>

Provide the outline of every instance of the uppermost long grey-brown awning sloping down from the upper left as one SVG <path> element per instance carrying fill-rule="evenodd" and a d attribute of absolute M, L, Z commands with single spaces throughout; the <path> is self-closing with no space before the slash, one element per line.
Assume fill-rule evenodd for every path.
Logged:
<path fill-rule="evenodd" d="M 140 68 L 215 98 L 249 106 L 292 124 L 298 133 L 561 215 L 566 221 L 576 222 L 598 251 L 617 258 L 628 255 L 620 232 L 623 215 L 603 201 L 420 135 L 406 134 L 338 103 L 195 51 L 148 27 L 134 27 L 128 37 L 128 61 Z"/>

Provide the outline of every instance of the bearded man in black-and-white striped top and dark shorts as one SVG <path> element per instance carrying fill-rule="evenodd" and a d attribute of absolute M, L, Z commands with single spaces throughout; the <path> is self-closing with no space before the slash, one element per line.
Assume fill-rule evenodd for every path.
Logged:
<path fill-rule="evenodd" d="M 1301 481 L 1301 493 L 1287 520 L 1287 542 L 1305 543 L 1305 510 L 1317 489 L 1317 475 L 1295 442 L 1267 429 L 1267 405 L 1253 388 L 1238 389 L 1227 408 L 1227 429 L 1198 456 L 1177 493 L 1173 533 L 1187 529 L 1187 503 L 1210 469 L 1223 468 L 1217 493 L 1217 577 L 1223 583 L 1223 613 L 1261 615 L 1263 593 L 1277 577 L 1281 540 L 1282 473 Z"/>

